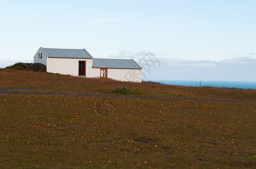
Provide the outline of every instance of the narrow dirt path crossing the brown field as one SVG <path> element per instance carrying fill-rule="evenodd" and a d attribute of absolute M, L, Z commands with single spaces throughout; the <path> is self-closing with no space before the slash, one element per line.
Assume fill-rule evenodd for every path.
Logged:
<path fill-rule="evenodd" d="M 55 91 L 57 93 L 50 93 Z M 74 91 L 74 94 L 58 94 L 58 92 Z M 224 99 L 200 99 L 189 97 L 159 97 L 159 96 L 138 96 L 138 95 L 97 95 L 97 94 L 78 94 L 78 90 L 72 89 L 35 89 L 35 88 L 0 88 L 0 95 L 46 95 L 46 96 L 80 96 L 80 97 L 106 97 L 120 99 L 154 99 L 154 100 L 187 100 L 187 101 L 216 101 L 228 103 L 250 103 L 256 104 L 256 101 L 246 100 L 224 100 Z"/>

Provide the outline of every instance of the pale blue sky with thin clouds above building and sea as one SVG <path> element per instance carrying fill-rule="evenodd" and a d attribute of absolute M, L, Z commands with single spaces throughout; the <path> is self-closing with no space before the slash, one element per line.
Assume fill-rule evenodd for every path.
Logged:
<path fill-rule="evenodd" d="M 3 1 L 0 68 L 39 47 L 157 61 L 147 79 L 256 81 L 256 1 Z M 141 62 L 140 62 L 141 63 Z"/>

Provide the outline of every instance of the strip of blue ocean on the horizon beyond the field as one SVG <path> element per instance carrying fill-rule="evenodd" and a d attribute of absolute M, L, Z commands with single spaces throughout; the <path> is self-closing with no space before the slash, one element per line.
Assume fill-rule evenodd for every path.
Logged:
<path fill-rule="evenodd" d="M 179 86 L 210 86 L 210 87 L 227 87 L 227 88 L 243 88 L 256 90 L 256 82 L 234 82 L 234 81 L 172 81 L 172 80 L 146 80 L 169 85 Z"/>

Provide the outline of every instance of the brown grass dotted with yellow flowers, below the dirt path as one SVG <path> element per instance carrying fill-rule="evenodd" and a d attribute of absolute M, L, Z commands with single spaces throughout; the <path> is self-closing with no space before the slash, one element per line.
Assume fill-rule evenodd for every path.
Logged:
<path fill-rule="evenodd" d="M 0 168 L 256 167 L 255 104 L 35 95 L 0 104 Z"/>

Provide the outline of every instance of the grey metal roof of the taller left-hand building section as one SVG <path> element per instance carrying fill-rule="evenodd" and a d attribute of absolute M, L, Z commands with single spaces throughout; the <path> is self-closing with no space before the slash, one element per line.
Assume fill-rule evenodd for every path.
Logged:
<path fill-rule="evenodd" d="M 81 58 L 91 59 L 92 55 L 84 49 L 66 49 L 66 48 L 42 48 L 48 57 L 65 57 L 65 58 Z"/>

